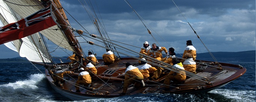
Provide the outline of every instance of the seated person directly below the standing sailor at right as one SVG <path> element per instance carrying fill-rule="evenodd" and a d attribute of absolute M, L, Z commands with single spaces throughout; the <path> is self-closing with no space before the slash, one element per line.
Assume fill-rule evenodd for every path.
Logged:
<path fill-rule="evenodd" d="M 183 67 L 186 71 L 196 74 L 196 62 L 193 61 L 193 56 L 190 53 L 186 53 L 185 61 L 183 62 Z"/>

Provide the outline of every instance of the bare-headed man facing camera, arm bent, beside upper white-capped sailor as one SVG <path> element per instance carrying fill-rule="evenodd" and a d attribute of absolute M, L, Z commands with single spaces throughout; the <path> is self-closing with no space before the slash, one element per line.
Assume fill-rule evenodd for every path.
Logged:
<path fill-rule="evenodd" d="M 165 47 L 158 47 L 157 44 L 153 43 L 148 56 L 157 59 L 158 61 L 161 61 L 163 59 L 162 51 L 164 51 L 168 55 L 167 49 Z M 148 59 L 148 61 L 152 62 L 151 59 Z"/>

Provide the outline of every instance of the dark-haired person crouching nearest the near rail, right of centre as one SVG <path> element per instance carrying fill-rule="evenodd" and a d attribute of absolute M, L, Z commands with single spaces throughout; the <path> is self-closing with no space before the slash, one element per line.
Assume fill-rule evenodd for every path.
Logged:
<path fill-rule="evenodd" d="M 185 83 L 186 80 L 186 74 L 185 74 L 185 69 L 183 68 L 183 65 L 181 64 L 181 62 L 179 62 L 179 59 L 177 58 L 173 58 L 173 70 L 175 71 L 170 71 L 170 73 L 168 75 L 166 75 L 166 78 L 164 79 L 164 85 L 165 88 L 168 90 L 169 89 L 169 85 L 170 85 L 170 81 L 173 81 L 174 83 Z"/>

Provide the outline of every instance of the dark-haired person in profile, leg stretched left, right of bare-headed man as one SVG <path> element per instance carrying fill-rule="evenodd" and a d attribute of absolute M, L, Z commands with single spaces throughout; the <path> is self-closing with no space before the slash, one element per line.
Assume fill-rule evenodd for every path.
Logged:
<path fill-rule="evenodd" d="M 169 48 L 169 54 L 168 56 L 166 56 L 164 59 L 162 59 L 161 61 L 166 63 L 166 64 L 169 64 L 169 65 L 173 65 L 172 64 L 172 59 L 175 58 L 175 55 L 176 53 L 174 52 L 174 49 L 171 47 Z M 166 69 L 162 68 L 162 67 L 158 67 L 157 68 L 157 71 L 154 72 L 154 75 L 151 77 L 152 80 L 156 80 L 160 77 L 162 71 L 164 71 Z"/>

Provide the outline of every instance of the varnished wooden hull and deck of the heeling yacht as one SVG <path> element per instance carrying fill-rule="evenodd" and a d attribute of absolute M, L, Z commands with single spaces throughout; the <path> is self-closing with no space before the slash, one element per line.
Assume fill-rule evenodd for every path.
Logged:
<path fill-rule="evenodd" d="M 102 61 L 99 61 L 102 62 Z M 122 73 L 125 71 L 125 62 L 130 62 L 131 64 L 138 65 L 136 59 L 132 58 L 122 58 L 119 61 L 116 61 L 114 64 L 108 65 L 108 67 L 101 65 L 96 66 L 98 72 L 97 77 L 92 77 L 92 84 L 90 87 L 94 89 L 86 89 L 86 87 L 80 88 L 80 93 L 75 92 L 74 83 L 77 80 L 78 73 L 64 75 L 64 79 L 68 79 L 65 83 L 62 84 L 62 87 L 56 86 L 53 81 L 53 77 L 48 73 L 48 70 L 45 70 L 47 75 L 48 81 L 51 83 L 56 92 L 60 93 L 61 95 L 70 98 L 74 101 L 81 101 L 85 99 L 96 99 L 96 98 L 113 98 L 122 96 L 119 93 L 122 92 L 122 81 L 124 77 Z M 206 63 L 210 63 L 209 61 L 202 61 Z M 233 64 L 225 64 L 220 63 L 222 65 L 223 70 L 218 70 L 215 67 L 215 64 L 208 66 L 206 69 L 197 71 L 196 75 L 207 77 L 210 80 L 211 85 L 205 84 L 205 82 L 197 80 L 195 78 L 188 78 L 185 80 L 184 84 L 172 84 L 170 86 L 170 90 L 164 90 L 163 81 L 165 75 L 167 73 L 163 73 L 162 77 L 158 80 L 144 80 L 146 86 L 142 88 L 134 88 L 133 86 L 128 87 L 127 93 L 131 95 L 137 93 L 202 93 L 202 92 L 209 92 L 211 90 L 220 88 L 231 81 L 239 78 L 246 72 L 246 69 L 240 67 L 239 65 Z M 69 71 L 69 68 L 66 67 L 67 64 L 58 65 L 62 67 L 63 70 Z M 203 65 L 197 65 L 197 68 Z M 74 65 L 71 71 L 76 71 L 78 65 Z M 152 73 L 151 73 L 152 75 Z"/>

